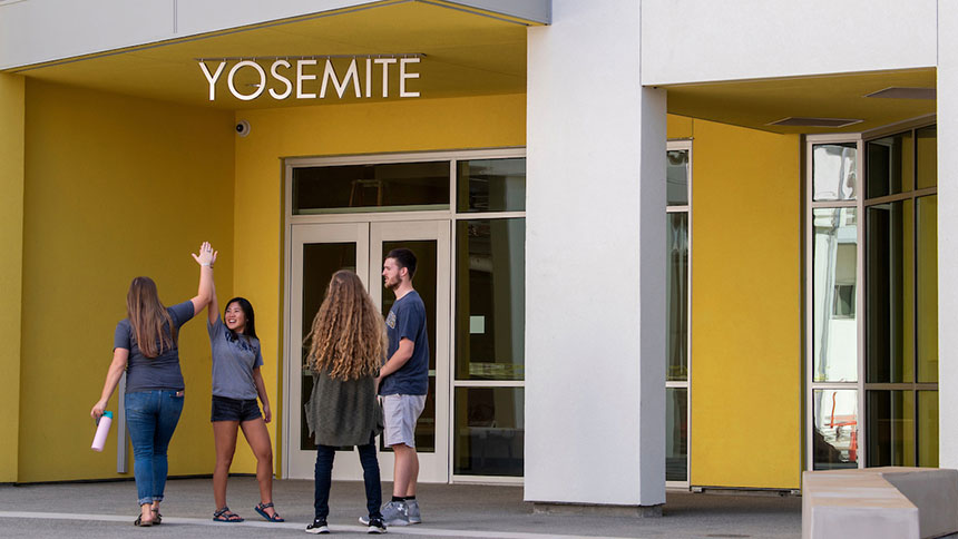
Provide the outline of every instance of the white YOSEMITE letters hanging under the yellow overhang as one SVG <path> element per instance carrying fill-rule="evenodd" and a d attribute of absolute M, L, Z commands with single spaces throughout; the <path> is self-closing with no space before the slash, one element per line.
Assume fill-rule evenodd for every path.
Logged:
<path fill-rule="evenodd" d="M 236 99 L 243 101 L 256 99 L 264 92 L 268 94 L 273 99 L 287 99 L 293 96 L 294 91 L 296 99 L 316 99 L 317 96 L 320 99 L 325 99 L 330 88 L 336 92 L 336 97 L 340 99 L 346 94 L 358 98 L 373 97 L 374 95 L 375 97 L 389 97 L 390 79 L 398 80 L 399 97 L 402 98 L 419 97 L 418 91 L 407 90 L 407 81 L 419 78 L 418 72 L 411 71 L 413 66 L 410 66 L 419 63 L 419 57 L 365 58 L 365 65 L 363 66 L 364 76 L 360 77 L 359 66 L 362 60 L 358 63 L 356 58 L 352 58 L 341 78 L 336 74 L 335 67 L 333 67 L 332 58 L 326 58 L 322 68 L 321 82 L 319 81 L 321 69 L 315 58 L 301 58 L 294 60 L 292 63 L 286 59 L 275 59 L 273 65 L 270 66 L 268 76 L 266 75 L 266 69 L 255 60 L 241 59 L 226 75 L 224 75 L 224 71 L 226 71 L 228 63 L 227 59 L 218 60 L 218 63 L 215 65 L 215 69 L 212 71 L 209 66 L 207 66 L 207 61 L 199 60 L 199 69 L 209 84 L 211 101 L 216 100 L 216 87 L 223 79 L 226 79 L 226 87 L 229 89 L 229 92 Z M 209 63 L 214 62 L 215 60 L 209 61 Z M 248 77 L 252 74 L 254 80 L 258 79 L 258 81 L 243 84 L 240 85 L 241 88 L 237 88 L 236 76 L 243 70 L 247 71 L 243 74 L 244 76 Z M 379 91 L 380 85 L 375 85 L 377 89 L 373 90 L 374 74 L 381 80 L 382 91 Z M 273 84 L 267 84 L 270 81 Z M 251 88 L 252 91 L 246 91 L 244 87 Z M 316 94 L 317 91 L 319 94 Z"/>

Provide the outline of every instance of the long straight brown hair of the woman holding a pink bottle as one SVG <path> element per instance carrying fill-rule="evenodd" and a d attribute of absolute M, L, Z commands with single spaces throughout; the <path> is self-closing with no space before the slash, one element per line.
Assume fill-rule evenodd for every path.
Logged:
<path fill-rule="evenodd" d="M 159 302 L 156 283 L 151 278 L 136 277 L 129 284 L 126 314 L 143 355 L 156 357 L 176 345 L 176 326 L 166 307 Z"/>

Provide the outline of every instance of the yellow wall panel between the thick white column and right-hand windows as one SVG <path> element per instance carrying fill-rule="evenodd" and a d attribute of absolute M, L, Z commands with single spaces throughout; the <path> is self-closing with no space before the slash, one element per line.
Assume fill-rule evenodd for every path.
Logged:
<path fill-rule="evenodd" d="M 800 139 L 703 120 L 692 136 L 691 482 L 799 488 Z"/>

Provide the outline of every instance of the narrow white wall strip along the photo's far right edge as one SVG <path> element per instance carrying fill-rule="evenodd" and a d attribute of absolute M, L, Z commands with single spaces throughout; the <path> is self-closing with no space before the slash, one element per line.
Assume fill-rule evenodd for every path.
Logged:
<path fill-rule="evenodd" d="M 958 468 L 958 2 L 938 2 L 938 461 Z"/>

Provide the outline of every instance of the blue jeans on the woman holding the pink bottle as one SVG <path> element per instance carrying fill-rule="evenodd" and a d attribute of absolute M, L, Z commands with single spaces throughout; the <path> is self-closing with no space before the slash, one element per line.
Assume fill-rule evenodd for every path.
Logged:
<path fill-rule="evenodd" d="M 137 501 L 140 506 L 162 501 L 168 468 L 166 450 L 179 422 L 179 414 L 183 413 L 183 392 L 155 390 L 127 393 L 124 409 L 133 442 Z"/>

